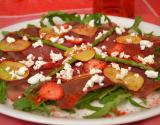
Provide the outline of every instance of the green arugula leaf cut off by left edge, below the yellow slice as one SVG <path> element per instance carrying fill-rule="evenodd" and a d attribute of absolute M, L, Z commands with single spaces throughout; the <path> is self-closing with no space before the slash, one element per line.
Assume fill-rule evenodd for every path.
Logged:
<path fill-rule="evenodd" d="M 5 103 L 7 99 L 7 83 L 0 81 L 0 103 Z"/>

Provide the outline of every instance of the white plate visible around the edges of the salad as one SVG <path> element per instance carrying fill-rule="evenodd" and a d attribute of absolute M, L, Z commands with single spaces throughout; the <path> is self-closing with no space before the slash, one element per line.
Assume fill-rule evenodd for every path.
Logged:
<path fill-rule="evenodd" d="M 110 16 L 111 20 L 119 25 L 129 27 L 133 24 L 134 20 L 122 18 L 122 17 L 115 17 Z M 5 27 L 0 30 L 1 31 L 15 31 L 21 28 L 24 28 L 27 26 L 28 23 L 39 25 L 39 19 L 37 20 L 31 20 L 26 21 L 22 23 L 17 23 L 15 25 L 11 25 L 8 27 Z M 151 32 L 154 31 L 154 34 L 160 35 L 160 27 L 156 26 L 154 24 L 143 22 L 140 25 L 140 28 L 145 32 Z M 2 36 L 0 35 L 0 39 Z M 15 117 L 18 119 L 26 120 L 26 121 L 32 121 L 37 123 L 44 123 L 44 124 L 65 124 L 65 125 L 106 125 L 106 124 L 122 124 L 122 123 L 129 123 L 134 121 L 139 121 L 142 119 L 150 118 L 156 115 L 160 114 L 160 107 L 155 107 L 152 109 L 148 109 L 142 112 L 137 112 L 133 114 L 129 114 L 126 116 L 120 116 L 115 118 L 100 118 L 100 119 L 65 119 L 65 118 L 53 118 L 53 117 L 45 117 L 40 115 L 35 115 L 32 113 L 22 112 L 14 110 L 10 105 L 2 105 L 0 104 L 0 113 Z"/>

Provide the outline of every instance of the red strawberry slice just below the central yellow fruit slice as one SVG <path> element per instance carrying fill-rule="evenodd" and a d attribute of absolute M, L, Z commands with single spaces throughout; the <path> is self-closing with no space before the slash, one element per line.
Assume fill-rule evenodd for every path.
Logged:
<path fill-rule="evenodd" d="M 90 69 L 92 69 L 92 68 L 97 68 L 97 69 L 102 70 L 105 67 L 106 67 L 106 62 L 100 61 L 97 59 L 92 59 L 92 60 L 86 62 L 83 66 L 85 73 L 88 73 L 90 71 Z"/>

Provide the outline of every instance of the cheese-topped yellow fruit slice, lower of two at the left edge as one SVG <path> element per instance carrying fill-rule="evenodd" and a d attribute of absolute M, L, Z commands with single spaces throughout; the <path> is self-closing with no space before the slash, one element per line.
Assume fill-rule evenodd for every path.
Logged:
<path fill-rule="evenodd" d="M 24 72 L 22 71 L 23 70 L 22 68 L 25 70 Z M 12 73 L 17 76 L 13 76 Z M 28 75 L 29 75 L 29 70 L 22 63 L 13 61 L 4 61 L 0 63 L 0 79 L 3 79 L 5 81 L 14 81 L 14 80 L 24 79 Z"/>

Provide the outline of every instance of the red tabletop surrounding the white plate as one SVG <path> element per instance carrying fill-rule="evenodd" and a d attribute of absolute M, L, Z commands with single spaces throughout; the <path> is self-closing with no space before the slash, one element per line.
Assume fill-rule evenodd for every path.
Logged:
<path fill-rule="evenodd" d="M 38 18 L 48 10 L 65 10 L 67 12 L 90 13 L 93 0 L 0 0 L 0 28 Z M 160 25 L 159 0 L 135 0 L 135 16 L 142 16 L 144 21 Z M 58 6 L 57 6 L 58 5 Z M 47 7 L 46 7 L 47 6 Z M 26 122 L 0 114 L 2 125 L 40 125 Z M 160 116 L 126 125 L 158 125 Z"/>

